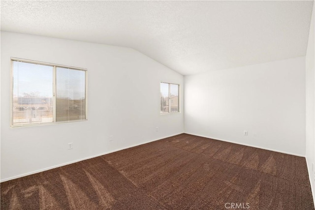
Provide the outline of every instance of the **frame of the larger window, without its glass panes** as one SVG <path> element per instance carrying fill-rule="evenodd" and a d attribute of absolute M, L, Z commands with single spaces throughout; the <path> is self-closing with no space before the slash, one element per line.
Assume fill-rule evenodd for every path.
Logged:
<path fill-rule="evenodd" d="M 13 62 L 14 61 L 31 63 L 31 64 L 40 64 L 40 65 L 44 65 L 44 66 L 53 67 L 53 122 L 13 125 Z M 56 122 L 56 69 L 58 67 L 85 71 L 85 119 Z M 11 100 L 10 101 L 11 101 L 11 118 L 10 118 L 11 128 L 87 121 L 88 120 L 88 70 L 84 69 L 84 68 L 78 68 L 78 67 L 65 66 L 65 65 L 60 65 L 60 64 L 52 64 L 52 63 L 47 63 L 47 62 L 11 57 Z"/>

